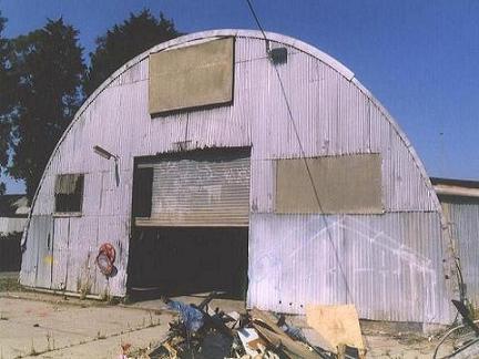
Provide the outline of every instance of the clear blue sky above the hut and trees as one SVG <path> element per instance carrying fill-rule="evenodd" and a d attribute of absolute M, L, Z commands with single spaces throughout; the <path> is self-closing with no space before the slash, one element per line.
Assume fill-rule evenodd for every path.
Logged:
<path fill-rule="evenodd" d="M 355 72 L 431 176 L 479 180 L 479 1 L 252 1 L 266 30 L 308 42 Z M 63 17 L 80 30 L 85 59 L 98 35 L 143 8 L 163 11 L 184 32 L 255 29 L 245 0 L 0 0 L 7 37 Z M 22 188 L 8 183 L 10 193 Z"/>

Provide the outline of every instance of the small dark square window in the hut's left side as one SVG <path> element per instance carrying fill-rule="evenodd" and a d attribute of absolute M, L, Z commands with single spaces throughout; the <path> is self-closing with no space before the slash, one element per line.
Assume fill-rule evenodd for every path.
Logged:
<path fill-rule="evenodd" d="M 55 181 L 55 212 L 79 213 L 83 202 L 83 175 L 62 174 Z"/>

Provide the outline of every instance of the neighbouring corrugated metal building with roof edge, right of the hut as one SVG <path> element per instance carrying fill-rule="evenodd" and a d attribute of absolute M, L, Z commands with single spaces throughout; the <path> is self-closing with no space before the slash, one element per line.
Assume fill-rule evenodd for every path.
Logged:
<path fill-rule="evenodd" d="M 460 260 L 465 296 L 479 308 L 479 182 L 431 178 Z"/>

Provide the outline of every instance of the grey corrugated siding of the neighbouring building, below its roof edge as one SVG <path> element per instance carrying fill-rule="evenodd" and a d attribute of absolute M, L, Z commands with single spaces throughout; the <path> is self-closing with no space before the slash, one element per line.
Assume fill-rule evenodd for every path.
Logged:
<path fill-rule="evenodd" d="M 441 199 L 457 246 L 467 297 L 479 307 L 479 199 Z"/>

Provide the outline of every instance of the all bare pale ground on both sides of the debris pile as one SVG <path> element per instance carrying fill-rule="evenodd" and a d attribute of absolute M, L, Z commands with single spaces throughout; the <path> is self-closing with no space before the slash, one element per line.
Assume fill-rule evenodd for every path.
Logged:
<path fill-rule="evenodd" d="M 244 309 L 235 300 L 213 306 Z M 165 338 L 173 316 L 157 299 L 131 305 L 80 300 L 22 291 L 14 276 L 0 276 L 0 359 L 119 358 L 125 343 L 137 357 Z M 368 358 L 431 358 L 438 343 L 437 336 L 384 322 L 361 321 L 361 330 Z"/>

